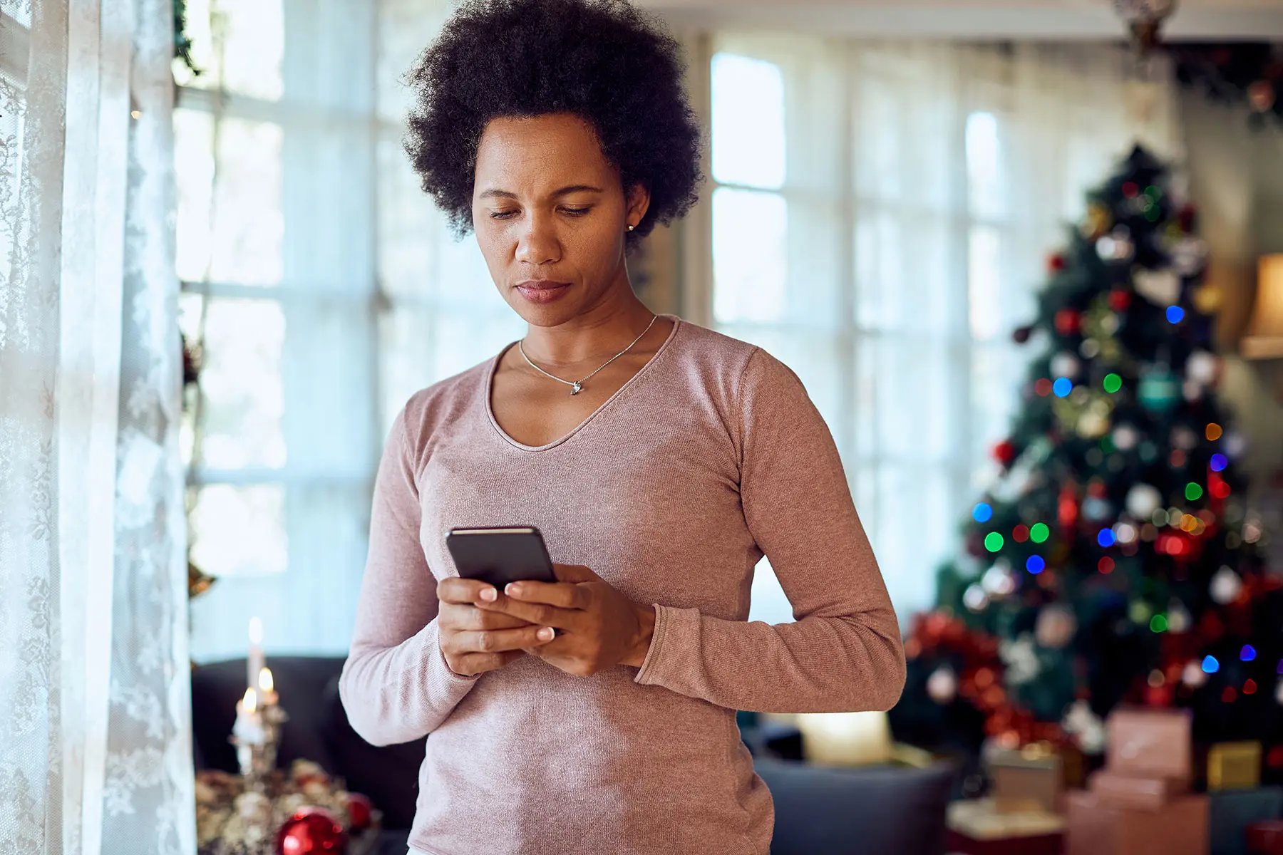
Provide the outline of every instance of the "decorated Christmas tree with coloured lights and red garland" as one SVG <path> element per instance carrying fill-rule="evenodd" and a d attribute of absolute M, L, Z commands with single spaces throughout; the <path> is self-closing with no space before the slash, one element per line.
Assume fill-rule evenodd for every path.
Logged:
<path fill-rule="evenodd" d="M 1215 387 L 1216 292 L 1194 208 L 1135 149 L 1051 258 L 1041 345 L 997 483 L 906 641 L 897 737 L 1103 743 L 1119 704 L 1191 708 L 1283 776 L 1283 581 Z"/>

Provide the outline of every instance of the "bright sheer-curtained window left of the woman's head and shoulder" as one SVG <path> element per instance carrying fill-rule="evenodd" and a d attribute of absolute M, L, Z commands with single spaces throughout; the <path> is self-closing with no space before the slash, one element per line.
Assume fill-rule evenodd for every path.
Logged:
<path fill-rule="evenodd" d="M 400 149 L 402 76 L 445 3 L 189 0 L 176 67 L 181 323 L 198 661 L 343 655 L 373 476 L 411 394 L 520 337 L 472 240 Z"/>

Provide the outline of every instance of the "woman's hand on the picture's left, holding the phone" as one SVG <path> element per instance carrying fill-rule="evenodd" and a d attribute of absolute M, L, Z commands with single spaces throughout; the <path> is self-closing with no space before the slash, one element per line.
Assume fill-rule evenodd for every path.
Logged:
<path fill-rule="evenodd" d="M 494 602 L 503 594 L 477 579 L 450 577 L 436 583 L 436 628 L 445 664 L 461 677 L 503 668 L 527 647 L 553 640 L 552 627 L 526 623 L 499 611 L 482 611 L 477 602 Z M 547 637 L 545 637 L 547 636 Z"/>

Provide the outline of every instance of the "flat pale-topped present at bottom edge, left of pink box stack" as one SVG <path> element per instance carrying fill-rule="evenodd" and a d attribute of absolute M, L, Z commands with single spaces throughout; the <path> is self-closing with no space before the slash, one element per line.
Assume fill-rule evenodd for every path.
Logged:
<path fill-rule="evenodd" d="M 1046 810 L 998 810 L 993 799 L 948 806 L 948 851 L 964 855 L 1061 855 L 1065 818 Z"/>

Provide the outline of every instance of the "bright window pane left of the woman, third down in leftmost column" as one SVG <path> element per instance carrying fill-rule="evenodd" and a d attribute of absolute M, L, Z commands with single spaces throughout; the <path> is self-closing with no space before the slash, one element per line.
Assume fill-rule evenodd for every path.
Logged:
<path fill-rule="evenodd" d="M 275 300 L 210 300 L 205 315 L 201 465 L 285 465 L 281 349 L 285 314 Z"/>

